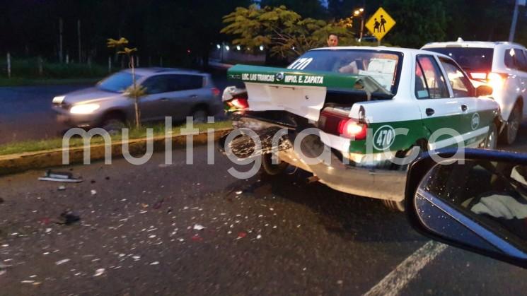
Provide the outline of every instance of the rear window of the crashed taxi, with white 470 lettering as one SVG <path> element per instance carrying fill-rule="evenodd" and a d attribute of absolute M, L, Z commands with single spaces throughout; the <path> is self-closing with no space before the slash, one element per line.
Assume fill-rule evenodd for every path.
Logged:
<path fill-rule="evenodd" d="M 397 93 L 403 55 L 369 49 L 321 49 L 306 52 L 287 69 L 330 71 L 370 76 L 390 93 Z"/>

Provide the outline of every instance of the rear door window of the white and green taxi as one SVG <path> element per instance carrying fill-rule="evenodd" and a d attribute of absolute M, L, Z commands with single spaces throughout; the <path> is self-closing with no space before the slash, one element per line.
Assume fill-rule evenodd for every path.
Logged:
<path fill-rule="evenodd" d="M 415 97 L 418 99 L 439 99 L 450 97 L 445 78 L 432 56 L 417 56 L 415 66 Z"/>

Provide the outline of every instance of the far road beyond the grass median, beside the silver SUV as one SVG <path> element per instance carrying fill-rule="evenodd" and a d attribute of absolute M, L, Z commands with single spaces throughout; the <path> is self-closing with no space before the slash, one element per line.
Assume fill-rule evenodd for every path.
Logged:
<path fill-rule="evenodd" d="M 225 73 L 214 73 L 216 87 L 227 86 Z M 57 95 L 91 85 L 40 85 L 0 88 L 0 145 L 4 143 L 57 138 L 68 126 L 55 120 L 51 101 Z"/>

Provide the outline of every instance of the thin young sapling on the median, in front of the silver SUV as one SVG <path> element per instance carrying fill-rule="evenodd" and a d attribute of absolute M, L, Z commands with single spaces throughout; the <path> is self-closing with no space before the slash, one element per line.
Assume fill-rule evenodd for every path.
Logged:
<path fill-rule="evenodd" d="M 126 47 L 128 44 L 128 40 L 124 37 L 121 37 L 119 40 L 115 39 L 108 39 L 108 47 L 109 48 L 115 48 L 117 50 L 117 54 L 124 54 L 128 57 L 128 67 L 132 69 L 132 85 L 127 88 L 127 90 L 124 90 L 124 93 L 128 96 L 134 99 L 134 107 L 135 107 L 135 124 L 136 127 L 139 129 L 141 126 L 141 112 L 139 110 L 139 99 L 143 97 L 146 94 L 146 88 L 142 87 L 141 85 L 137 85 L 135 81 L 135 66 L 134 66 L 134 52 L 137 52 L 137 48 L 129 48 Z"/>

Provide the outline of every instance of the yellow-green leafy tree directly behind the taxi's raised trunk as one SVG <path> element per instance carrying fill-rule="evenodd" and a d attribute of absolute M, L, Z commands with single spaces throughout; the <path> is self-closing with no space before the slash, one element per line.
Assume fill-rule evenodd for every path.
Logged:
<path fill-rule="evenodd" d="M 354 44 L 349 20 L 328 23 L 302 18 L 285 6 L 238 7 L 224 16 L 224 23 L 227 25 L 221 32 L 235 35 L 234 45 L 248 48 L 263 45 L 272 56 L 282 58 L 297 57 L 309 49 L 325 46 L 330 33 L 340 36 L 340 45 Z"/>

